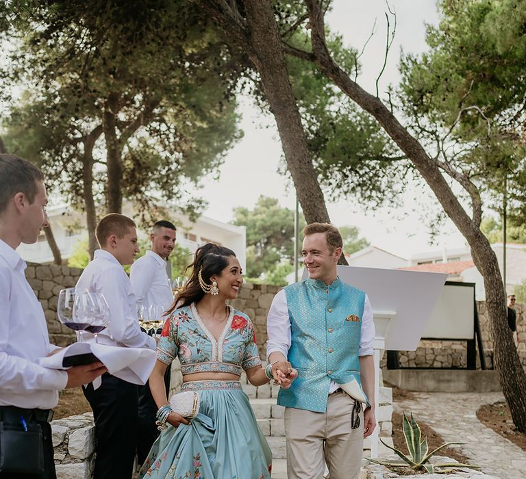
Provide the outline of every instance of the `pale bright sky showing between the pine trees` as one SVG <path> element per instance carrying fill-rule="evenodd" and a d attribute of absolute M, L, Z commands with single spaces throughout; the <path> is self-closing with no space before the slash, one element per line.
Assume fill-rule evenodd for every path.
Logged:
<path fill-rule="evenodd" d="M 386 70 L 379 83 L 384 91 L 389 83 L 399 81 L 400 50 L 406 53 L 425 51 L 425 23 L 438 23 L 435 0 L 390 0 L 391 10 L 397 13 L 397 31 L 388 56 Z M 386 2 L 381 0 L 335 0 L 326 22 L 332 31 L 342 34 L 346 46 L 362 49 L 371 34 L 376 19 L 376 33 L 362 55 L 362 74 L 358 83 L 365 90 L 375 92 L 375 79 L 384 61 L 386 42 Z M 391 22 L 392 28 L 392 22 Z M 281 144 L 272 117 L 262 116 L 249 98 L 240 99 L 238 112 L 242 116 L 240 129 L 244 138 L 227 153 L 217 180 L 205 179 L 201 194 L 209 202 L 204 212 L 216 220 L 230 222 L 232 209 L 252 208 L 260 195 L 278 198 L 279 204 L 293 209 L 295 191 L 292 183 L 277 172 Z M 421 199 L 416 204 L 414 196 Z M 436 244 L 429 246 L 429 228 L 423 219 L 436 200 L 420 188 L 410 189 L 403 197 L 403 209 L 366 211 L 355 200 L 327 203 L 331 222 L 336 226 L 358 226 L 360 234 L 373 246 L 409 257 L 429 249 L 458 248 L 464 238 L 449 220 L 441 227 Z M 416 205 L 416 206 L 415 206 Z"/>

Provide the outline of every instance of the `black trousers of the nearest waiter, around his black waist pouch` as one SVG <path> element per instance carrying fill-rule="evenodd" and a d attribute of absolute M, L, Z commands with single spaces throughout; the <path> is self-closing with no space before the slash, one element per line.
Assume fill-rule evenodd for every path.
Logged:
<path fill-rule="evenodd" d="M 42 444 L 44 448 L 44 474 L 2 474 L 1 479 L 56 479 L 55 460 L 53 458 L 53 442 L 51 441 L 51 426 L 42 416 L 49 411 L 40 409 L 21 409 L 14 406 L 0 406 L 0 421 L 18 426 L 20 417 L 23 416 L 27 424 L 40 424 L 42 429 Z"/>

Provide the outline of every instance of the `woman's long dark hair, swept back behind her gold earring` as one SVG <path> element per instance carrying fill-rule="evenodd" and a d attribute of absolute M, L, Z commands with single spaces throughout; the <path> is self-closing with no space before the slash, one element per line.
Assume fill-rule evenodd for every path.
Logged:
<path fill-rule="evenodd" d="M 236 253 L 225 246 L 218 246 L 214 243 L 203 244 L 197 248 L 195 252 L 194 261 L 192 264 L 186 266 L 186 271 L 192 270 L 190 279 L 184 287 L 179 291 L 171 307 L 166 311 L 166 314 L 171 314 L 176 308 L 182 308 L 184 306 L 191 305 L 192 302 L 199 302 L 205 292 L 199 285 L 199 279 L 197 275 L 201 268 L 201 277 L 207 284 L 212 283 L 210 276 L 214 274 L 221 274 L 221 272 L 228 266 L 228 258 L 236 256 Z"/>

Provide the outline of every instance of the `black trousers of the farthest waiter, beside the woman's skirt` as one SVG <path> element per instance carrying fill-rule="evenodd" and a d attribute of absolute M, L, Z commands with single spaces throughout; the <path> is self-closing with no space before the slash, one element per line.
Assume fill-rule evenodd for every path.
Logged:
<path fill-rule="evenodd" d="M 166 395 L 170 389 L 170 367 L 166 369 L 164 374 L 164 386 L 166 387 Z M 138 417 L 138 435 L 137 435 L 137 463 L 142 465 L 150 452 L 151 446 L 160 435 L 160 431 L 155 424 L 157 419 L 158 407 L 151 396 L 151 391 L 148 383 L 144 386 L 139 386 L 139 417 Z"/>

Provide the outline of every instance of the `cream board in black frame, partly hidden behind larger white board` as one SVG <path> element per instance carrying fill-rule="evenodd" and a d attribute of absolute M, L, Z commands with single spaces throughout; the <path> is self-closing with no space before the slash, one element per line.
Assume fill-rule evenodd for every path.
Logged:
<path fill-rule="evenodd" d="M 475 284 L 444 285 L 422 337 L 473 339 L 475 337 Z"/>

